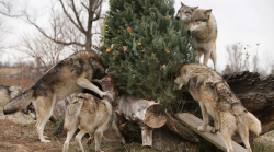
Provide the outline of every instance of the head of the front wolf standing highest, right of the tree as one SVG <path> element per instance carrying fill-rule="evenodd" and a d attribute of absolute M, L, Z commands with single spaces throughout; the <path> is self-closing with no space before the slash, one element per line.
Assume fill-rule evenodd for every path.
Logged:
<path fill-rule="evenodd" d="M 208 21 L 212 16 L 212 10 L 195 9 L 192 13 L 189 30 L 191 32 L 203 32 L 207 28 Z"/>

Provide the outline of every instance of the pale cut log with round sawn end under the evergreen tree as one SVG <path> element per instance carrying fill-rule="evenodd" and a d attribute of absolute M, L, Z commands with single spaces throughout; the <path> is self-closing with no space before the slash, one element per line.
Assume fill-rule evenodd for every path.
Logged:
<path fill-rule="evenodd" d="M 147 100 L 137 100 L 132 95 L 123 95 L 117 102 L 118 114 L 140 127 L 142 147 L 152 147 L 153 129 L 167 122 L 164 106 Z"/>

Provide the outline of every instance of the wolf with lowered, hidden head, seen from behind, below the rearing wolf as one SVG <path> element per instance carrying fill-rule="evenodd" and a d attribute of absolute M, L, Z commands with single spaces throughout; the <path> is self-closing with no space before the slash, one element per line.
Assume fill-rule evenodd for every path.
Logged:
<path fill-rule="evenodd" d="M 113 90 L 110 93 L 114 94 Z M 76 136 L 76 143 L 81 152 L 84 152 L 81 139 L 85 133 L 89 133 L 91 138 L 94 135 L 95 151 L 101 152 L 100 143 L 102 137 L 109 141 L 119 140 L 125 143 L 125 139 L 121 136 L 117 116 L 112 109 L 111 101 L 110 97 L 99 100 L 88 93 L 77 94 L 72 98 L 72 103 L 66 110 L 64 128 L 67 130 L 67 139 L 64 143 L 62 152 L 68 151 L 69 141 L 78 128 L 80 131 Z"/>

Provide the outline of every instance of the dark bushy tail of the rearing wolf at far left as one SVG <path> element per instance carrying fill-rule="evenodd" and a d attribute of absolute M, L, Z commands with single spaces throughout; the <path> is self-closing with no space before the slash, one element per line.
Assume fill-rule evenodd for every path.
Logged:
<path fill-rule="evenodd" d="M 12 98 L 3 108 L 4 115 L 19 112 L 26 108 L 33 101 L 33 89 L 30 89 L 22 93 L 21 95 Z"/>

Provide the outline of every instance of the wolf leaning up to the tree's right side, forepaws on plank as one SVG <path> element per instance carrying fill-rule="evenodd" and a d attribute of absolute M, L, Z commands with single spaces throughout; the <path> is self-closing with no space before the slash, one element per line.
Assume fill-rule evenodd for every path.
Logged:
<path fill-rule="evenodd" d="M 184 86 L 199 104 L 204 122 L 197 130 L 205 131 L 209 114 L 214 119 L 212 132 L 220 129 L 228 152 L 232 152 L 231 137 L 236 130 L 251 152 L 249 130 L 259 136 L 262 130 L 261 122 L 241 105 L 240 100 L 216 71 L 202 65 L 185 65 L 174 82 L 180 89 Z"/>

